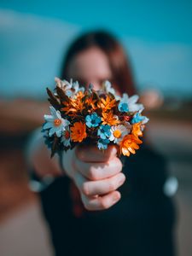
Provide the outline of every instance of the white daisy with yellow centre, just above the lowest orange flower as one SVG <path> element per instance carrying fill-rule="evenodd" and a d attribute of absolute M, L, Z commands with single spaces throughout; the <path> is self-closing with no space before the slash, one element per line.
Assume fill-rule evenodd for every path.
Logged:
<path fill-rule="evenodd" d="M 119 143 L 129 132 L 130 131 L 124 125 L 113 125 L 111 127 L 111 136 L 109 137 L 109 140 L 113 141 L 113 143 Z"/>

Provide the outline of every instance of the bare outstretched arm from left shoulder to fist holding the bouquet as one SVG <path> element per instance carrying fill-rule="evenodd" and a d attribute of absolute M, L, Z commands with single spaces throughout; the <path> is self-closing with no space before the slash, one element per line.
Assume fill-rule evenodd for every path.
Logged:
<path fill-rule="evenodd" d="M 121 172 L 122 164 L 116 154 L 114 146 L 108 147 L 105 153 L 96 146 L 80 146 L 63 153 L 64 172 L 79 189 L 86 209 L 104 210 L 119 201 L 117 189 L 125 182 L 125 175 Z M 29 155 L 38 177 L 63 175 L 58 157 L 50 159 L 42 137 L 33 143 Z"/>

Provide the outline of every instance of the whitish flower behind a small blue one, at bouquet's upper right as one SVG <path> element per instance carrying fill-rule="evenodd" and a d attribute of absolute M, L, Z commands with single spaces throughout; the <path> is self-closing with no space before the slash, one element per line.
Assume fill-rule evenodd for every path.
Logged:
<path fill-rule="evenodd" d="M 122 108 L 121 106 L 124 106 L 124 108 L 126 108 L 125 105 L 123 105 L 123 103 L 125 103 L 125 104 L 127 104 L 128 111 L 130 111 L 130 112 L 136 112 L 139 110 L 143 110 L 143 104 L 136 103 L 138 101 L 138 98 L 139 97 L 137 95 L 129 97 L 126 93 L 124 93 L 119 102 L 119 108 Z"/>

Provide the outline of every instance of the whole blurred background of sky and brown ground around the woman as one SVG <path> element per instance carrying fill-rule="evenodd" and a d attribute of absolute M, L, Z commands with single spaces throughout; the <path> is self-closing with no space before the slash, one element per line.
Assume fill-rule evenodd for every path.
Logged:
<path fill-rule="evenodd" d="M 190 0 L 0 1 L 0 254 L 53 255 L 27 184 L 26 140 L 44 121 L 45 88 L 60 76 L 68 44 L 94 28 L 113 32 L 131 56 L 150 118 L 146 136 L 168 160 L 177 255 L 192 255 Z"/>

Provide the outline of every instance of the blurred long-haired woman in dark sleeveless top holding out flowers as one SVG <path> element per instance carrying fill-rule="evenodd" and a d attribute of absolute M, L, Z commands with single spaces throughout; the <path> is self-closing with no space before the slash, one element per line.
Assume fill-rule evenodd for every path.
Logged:
<path fill-rule="evenodd" d="M 96 90 L 109 80 L 119 94 L 136 93 L 125 52 L 108 32 L 77 38 L 67 51 L 61 79 L 91 83 Z M 33 175 L 42 183 L 56 177 L 39 193 L 56 255 L 174 254 L 174 210 L 163 193 L 166 162 L 146 143 L 122 166 L 113 146 L 105 154 L 78 147 L 51 160 L 40 137 L 31 159 Z"/>

